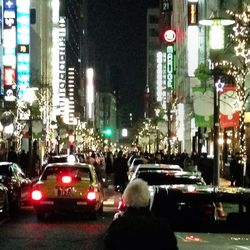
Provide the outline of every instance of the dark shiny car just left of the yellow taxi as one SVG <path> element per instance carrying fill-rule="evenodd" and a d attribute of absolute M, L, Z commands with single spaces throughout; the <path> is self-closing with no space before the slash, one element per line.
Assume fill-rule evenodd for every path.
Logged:
<path fill-rule="evenodd" d="M 8 189 L 10 210 L 19 210 L 22 205 L 30 204 L 32 180 L 15 162 L 0 162 L 0 183 Z"/>

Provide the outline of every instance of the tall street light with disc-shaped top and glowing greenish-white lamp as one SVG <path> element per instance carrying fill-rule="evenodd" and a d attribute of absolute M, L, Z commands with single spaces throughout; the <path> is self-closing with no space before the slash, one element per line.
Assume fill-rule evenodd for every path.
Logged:
<path fill-rule="evenodd" d="M 221 50 L 224 49 L 224 26 L 233 25 L 234 20 L 224 19 L 220 17 L 200 20 L 199 24 L 210 27 L 209 32 L 209 45 L 210 49 Z M 214 168 L 213 168 L 213 185 L 219 185 L 220 179 L 220 147 L 219 147 L 219 135 L 220 135 L 220 95 L 219 92 L 223 91 L 224 82 L 222 82 L 222 76 L 218 74 L 216 69 L 214 70 Z"/>

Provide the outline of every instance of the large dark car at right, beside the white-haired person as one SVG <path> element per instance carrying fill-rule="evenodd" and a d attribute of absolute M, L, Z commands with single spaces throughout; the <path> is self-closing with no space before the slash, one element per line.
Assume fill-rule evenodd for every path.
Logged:
<path fill-rule="evenodd" d="M 150 210 L 169 223 L 179 250 L 250 249 L 249 188 L 157 186 L 151 199 Z M 114 219 L 123 211 L 115 213 Z"/>

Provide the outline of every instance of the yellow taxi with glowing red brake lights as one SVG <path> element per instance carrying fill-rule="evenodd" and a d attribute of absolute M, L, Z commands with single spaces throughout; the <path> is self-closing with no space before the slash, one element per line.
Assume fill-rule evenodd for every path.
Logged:
<path fill-rule="evenodd" d="M 86 163 L 48 164 L 31 197 L 38 220 L 53 212 L 82 213 L 95 219 L 103 211 L 103 186 L 94 166 Z"/>

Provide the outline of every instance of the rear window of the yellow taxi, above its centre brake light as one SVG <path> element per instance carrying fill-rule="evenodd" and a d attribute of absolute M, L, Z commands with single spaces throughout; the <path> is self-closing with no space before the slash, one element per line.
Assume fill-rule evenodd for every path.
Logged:
<path fill-rule="evenodd" d="M 91 174 L 88 168 L 78 167 L 47 167 L 41 176 L 41 180 L 47 180 L 48 176 L 58 177 L 62 174 L 68 174 L 73 177 L 78 177 L 81 180 L 91 181 Z"/>

